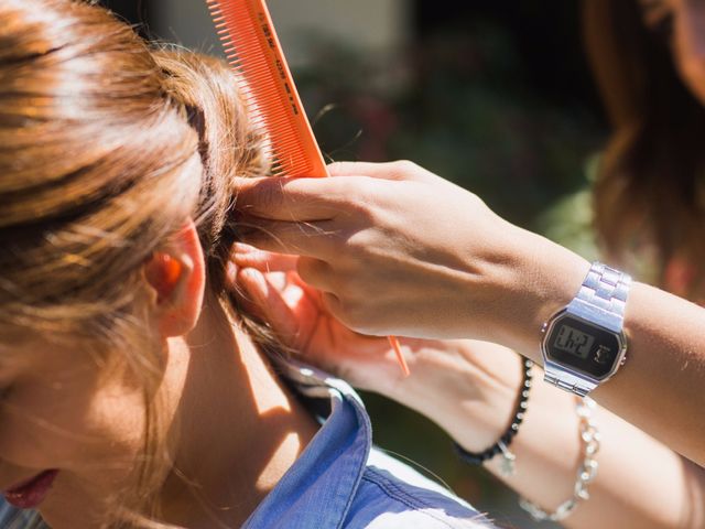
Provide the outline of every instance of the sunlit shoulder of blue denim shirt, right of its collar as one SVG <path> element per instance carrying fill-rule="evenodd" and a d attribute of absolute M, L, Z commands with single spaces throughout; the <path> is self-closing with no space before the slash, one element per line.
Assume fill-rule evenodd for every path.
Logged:
<path fill-rule="evenodd" d="M 470 529 L 494 526 L 437 483 L 373 449 L 343 527 Z"/>

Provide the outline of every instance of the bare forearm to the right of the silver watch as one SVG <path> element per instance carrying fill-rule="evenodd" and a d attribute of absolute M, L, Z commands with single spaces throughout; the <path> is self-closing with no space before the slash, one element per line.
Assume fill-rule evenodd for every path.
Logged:
<path fill-rule="evenodd" d="M 705 309 L 637 283 L 625 366 L 595 399 L 705 467 Z"/>

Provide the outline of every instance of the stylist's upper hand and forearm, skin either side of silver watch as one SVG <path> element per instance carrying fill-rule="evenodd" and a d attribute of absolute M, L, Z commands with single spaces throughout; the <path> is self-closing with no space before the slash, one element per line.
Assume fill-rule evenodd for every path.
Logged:
<path fill-rule="evenodd" d="M 589 263 L 409 162 L 333 165 L 332 179 L 245 181 L 245 241 L 302 256 L 302 279 L 355 331 L 495 342 L 542 364 L 543 322 Z M 592 396 L 705 466 L 705 309 L 633 283 L 629 359 Z M 687 366 L 687 368 L 684 368 Z M 659 406 L 643 396 L 658 396 Z"/>

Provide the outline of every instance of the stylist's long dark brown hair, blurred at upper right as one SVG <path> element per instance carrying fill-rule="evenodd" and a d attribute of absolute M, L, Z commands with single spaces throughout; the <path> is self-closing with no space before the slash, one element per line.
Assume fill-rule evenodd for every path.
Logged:
<path fill-rule="evenodd" d="M 587 51 L 614 132 L 595 185 L 595 224 L 616 258 L 674 260 L 705 289 L 705 108 L 679 77 L 670 29 L 649 31 L 634 0 L 585 0 Z"/>

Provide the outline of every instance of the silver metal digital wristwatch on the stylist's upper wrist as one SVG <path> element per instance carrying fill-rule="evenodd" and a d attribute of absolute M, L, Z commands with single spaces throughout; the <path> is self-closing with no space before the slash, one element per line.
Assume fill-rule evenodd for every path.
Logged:
<path fill-rule="evenodd" d="M 577 295 L 543 324 L 545 381 L 585 397 L 623 365 L 630 284 L 628 274 L 593 263 Z"/>

